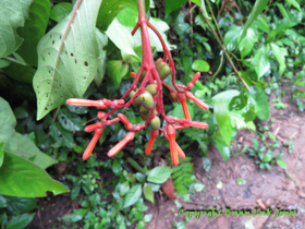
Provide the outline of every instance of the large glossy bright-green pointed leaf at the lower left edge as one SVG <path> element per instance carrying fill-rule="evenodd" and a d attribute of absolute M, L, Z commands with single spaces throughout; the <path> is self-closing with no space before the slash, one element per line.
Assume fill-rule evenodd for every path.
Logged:
<path fill-rule="evenodd" d="M 35 164 L 11 154 L 4 153 L 4 161 L 0 168 L 0 193 L 22 197 L 47 196 L 47 191 L 54 195 L 69 192 L 60 182 Z"/>

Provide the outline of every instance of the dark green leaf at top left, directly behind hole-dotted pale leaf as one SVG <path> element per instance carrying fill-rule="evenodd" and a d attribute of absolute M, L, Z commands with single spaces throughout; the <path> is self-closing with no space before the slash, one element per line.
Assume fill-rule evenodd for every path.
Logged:
<path fill-rule="evenodd" d="M 24 38 L 24 41 L 17 49 L 17 53 L 29 65 L 37 67 L 36 47 L 46 33 L 50 10 L 51 4 L 49 0 L 34 0 L 24 27 L 19 29 L 19 35 Z"/>

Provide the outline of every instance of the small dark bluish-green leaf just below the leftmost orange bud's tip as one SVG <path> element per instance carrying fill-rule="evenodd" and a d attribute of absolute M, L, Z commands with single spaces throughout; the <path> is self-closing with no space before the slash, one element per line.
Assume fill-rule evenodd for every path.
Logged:
<path fill-rule="evenodd" d="M 58 112 L 58 120 L 61 125 L 68 131 L 81 131 L 83 121 L 80 116 L 72 113 L 66 108 L 61 108 Z"/>

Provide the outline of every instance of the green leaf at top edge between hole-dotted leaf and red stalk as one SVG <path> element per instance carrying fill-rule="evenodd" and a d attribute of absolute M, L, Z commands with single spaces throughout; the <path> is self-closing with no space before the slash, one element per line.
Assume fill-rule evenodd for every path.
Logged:
<path fill-rule="evenodd" d="M 129 7 L 137 7 L 135 0 L 103 0 L 100 4 L 97 27 L 106 31 L 118 13 Z"/>

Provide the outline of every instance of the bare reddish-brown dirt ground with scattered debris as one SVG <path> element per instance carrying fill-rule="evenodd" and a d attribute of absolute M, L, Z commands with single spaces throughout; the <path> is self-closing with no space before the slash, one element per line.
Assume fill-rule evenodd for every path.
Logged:
<path fill-rule="evenodd" d="M 245 228 L 248 219 L 255 229 L 260 228 L 305 228 L 305 162 L 304 128 L 305 119 L 303 113 L 298 112 L 295 105 L 291 104 L 290 97 L 282 98 L 286 105 L 286 109 L 277 110 L 270 104 L 270 117 L 274 119 L 272 125 L 268 122 L 261 122 L 269 125 L 270 131 L 280 142 L 294 143 L 292 154 L 288 153 L 286 147 L 282 147 L 286 169 L 283 170 L 279 166 L 272 166 L 272 170 L 261 171 L 255 159 L 247 154 L 241 154 L 231 158 L 225 162 L 216 148 L 211 148 L 208 158 L 212 166 L 209 172 L 206 172 L 202 166 L 202 159 L 191 153 L 194 162 L 194 170 L 197 180 L 202 181 L 205 192 L 191 195 L 192 202 L 185 203 L 178 200 L 182 207 L 178 208 L 174 201 L 163 196 L 155 205 L 146 202 L 148 206 L 147 214 L 152 214 L 152 219 L 146 225 L 147 229 L 167 229 L 175 228 L 172 226 L 174 221 L 185 221 L 185 216 L 180 216 L 179 210 L 204 210 L 208 207 L 216 209 L 281 209 L 297 210 L 296 216 L 212 216 L 208 220 L 208 216 L 200 216 L 196 220 L 194 215 L 186 222 L 186 229 L 227 229 L 227 228 Z M 271 98 L 272 99 L 272 98 Z M 253 146 L 252 138 L 254 134 L 248 131 L 240 131 L 233 144 L 242 144 Z M 279 153 L 277 149 L 274 153 Z M 185 152 L 187 154 L 187 152 Z M 190 153 L 188 153 L 190 154 Z M 237 179 L 246 180 L 246 184 L 237 185 Z M 216 184 L 222 182 L 222 189 L 217 189 Z M 71 213 L 73 205 L 69 195 L 61 195 L 51 198 L 44 205 L 44 210 L 38 210 L 34 221 L 27 227 L 30 228 L 60 228 L 61 222 L 58 217 Z M 174 212 L 172 212 L 174 209 Z M 251 229 L 253 227 L 246 227 Z"/>

